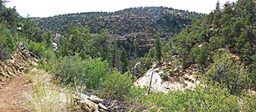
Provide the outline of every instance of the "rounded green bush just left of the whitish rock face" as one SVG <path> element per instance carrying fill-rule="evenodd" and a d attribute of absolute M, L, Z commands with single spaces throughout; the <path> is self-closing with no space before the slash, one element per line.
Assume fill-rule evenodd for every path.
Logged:
<path fill-rule="evenodd" d="M 132 87 L 132 80 L 127 76 L 128 72 L 122 75 L 121 72 L 114 70 L 103 82 L 103 90 L 106 97 L 111 99 L 123 99 L 124 96 L 127 96 Z"/>

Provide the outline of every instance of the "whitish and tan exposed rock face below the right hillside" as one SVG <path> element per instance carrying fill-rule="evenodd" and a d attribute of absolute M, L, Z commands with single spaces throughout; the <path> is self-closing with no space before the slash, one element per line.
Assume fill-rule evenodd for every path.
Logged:
<path fill-rule="evenodd" d="M 149 86 L 152 72 L 151 92 L 159 91 L 168 93 L 169 90 L 193 90 L 196 85 L 200 83 L 200 81 L 197 80 L 199 69 L 196 69 L 196 65 L 189 66 L 189 69 L 186 70 L 178 68 L 171 69 L 171 74 L 163 72 L 165 69 L 169 68 L 171 68 L 171 62 L 165 63 L 155 69 L 151 68 L 144 74 L 144 76 L 138 78 L 138 80 L 134 82 L 134 85 L 136 87 Z M 168 75 L 168 80 L 162 80 L 160 77 L 160 74 L 162 73 Z"/>

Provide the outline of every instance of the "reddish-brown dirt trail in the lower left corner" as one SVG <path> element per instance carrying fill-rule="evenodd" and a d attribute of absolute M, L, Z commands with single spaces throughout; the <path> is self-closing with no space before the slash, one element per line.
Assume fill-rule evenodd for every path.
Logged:
<path fill-rule="evenodd" d="M 31 90 L 30 84 L 25 83 L 24 77 L 11 78 L 0 89 L 0 112 L 26 111 L 23 108 L 26 96 Z"/>

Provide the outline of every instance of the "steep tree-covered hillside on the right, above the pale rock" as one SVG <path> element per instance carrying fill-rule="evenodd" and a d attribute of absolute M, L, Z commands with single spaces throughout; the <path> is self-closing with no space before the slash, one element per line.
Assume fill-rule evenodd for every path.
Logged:
<path fill-rule="evenodd" d="M 240 0 L 236 4 L 227 3 L 222 10 L 219 4 L 216 4 L 216 10 L 203 20 L 189 25 L 172 40 L 179 52 L 183 69 L 192 63 L 198 63 L 198 67 L 208 78 L 227 84 L 231 93 L 240 86 L 240 90 L 248 86 L 256 89 L 255 13 L 255 1 L 252 0 Z M 220 51 L 227 51 L 234 60 L 230 62 L 222 57 L 216 57 L 217 54 L 222 54 Z M 241 72 L 241 69 L 246 73 Z M 234 74 L 231 72 L 236 70 Z M 245 76 L 249 79 L 244 79 Z M 235 82 L 229 82 L 231 79 Z M 243 84 L 246 82 L 242 80 L 249 81 Z"/>

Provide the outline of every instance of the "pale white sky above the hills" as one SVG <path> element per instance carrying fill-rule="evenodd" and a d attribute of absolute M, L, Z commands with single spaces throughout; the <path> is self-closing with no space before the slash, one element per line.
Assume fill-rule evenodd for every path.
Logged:
<path fill-rule="evenodd" d="M 218 0 L 9 0 L 7 7 L 16 7 L 19 15 L 25 17 L 48 17 L 66 13 L 92 11 L 115 12 L 129 7 L 172 7 L 198 13 L 210 13 Z M 226 1 L 219 0 L 221 6 Z"/>

